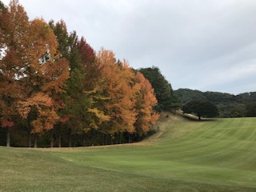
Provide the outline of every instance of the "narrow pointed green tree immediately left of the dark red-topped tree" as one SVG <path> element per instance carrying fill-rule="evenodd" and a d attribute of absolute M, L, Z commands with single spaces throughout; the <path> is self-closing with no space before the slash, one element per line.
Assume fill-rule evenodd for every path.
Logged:
<path fill-rule="evenodd" d="M 72 138 L 82 129 L 83 119 L 86 117 L 86 108 L 90 101 L 84 93 L 85 71 L 78 51 L 78 36 L 74 32 L 70 34 L 70 78 L 67 82 L 66 114 L 70 115 L 66 122 L 69 133 L 69 146 L 72 146 Z"/>

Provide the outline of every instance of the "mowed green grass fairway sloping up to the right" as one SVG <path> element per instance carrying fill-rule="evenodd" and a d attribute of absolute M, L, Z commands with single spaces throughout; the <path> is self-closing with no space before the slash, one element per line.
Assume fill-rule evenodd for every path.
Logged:
<path fill-rule="evenodd" d="M 132 145 L 0 147 L 0 191 L 256 191 L 256 118 L 159 127 Z"/>

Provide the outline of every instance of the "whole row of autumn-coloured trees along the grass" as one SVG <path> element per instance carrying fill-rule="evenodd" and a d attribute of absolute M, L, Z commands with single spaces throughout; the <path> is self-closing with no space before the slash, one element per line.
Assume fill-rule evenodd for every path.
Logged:
<path fill-rule="evenodd" d="M 125 142 L 150 130 L 156 105 L 150 82 L 126 60 L 110 50 L 96 54 L 64 21 L 30 21 L 18 1 L 0 2 L 0 122 L 7 146 L 10 133 L 15 146 L 25 140 L 38 146 L 38 138 L 83 146 L 86 136 L 90 144 L 99 138 L 105 144 L 106 137 Z"/>

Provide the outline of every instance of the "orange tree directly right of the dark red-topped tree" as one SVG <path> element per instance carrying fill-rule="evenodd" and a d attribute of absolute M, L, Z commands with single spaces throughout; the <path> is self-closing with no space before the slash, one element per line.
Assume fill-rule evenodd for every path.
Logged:
<path fill-rule="evenodd" d="M 102 65 L 102 92 L 109 98 L 102 103 L 104 111 L 110 116 L 110 121 L 102 126 L 103 135 L 110 134 L 113 138 L 116 133 L 134 133 L 136 111 L 133 71 L 125 60 L 118 63 L 114 53 L 109 50 L 98 52 L 98 62 Z"/>

